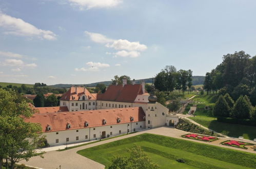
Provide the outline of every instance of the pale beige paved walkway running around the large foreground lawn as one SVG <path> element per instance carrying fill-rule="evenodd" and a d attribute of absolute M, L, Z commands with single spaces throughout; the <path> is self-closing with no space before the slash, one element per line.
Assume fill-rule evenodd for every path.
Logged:
<path fill-rule="evenodd" d="M 210 144 L 210 145 L 216 145 L 216 146 L 225 147 L 227 149 L 240 150 L 240 151 L 256 154 L 256 151 L 252 151 L 252 149 L 250 149 L 250 148 L 248 148 L 248 150 L 244 150 L 244 149 L 239 149 L 239 148 L 220 144 L 220 142 L 228 140 L 229 138 L 220 138 L 220 140 L 213 141 L 213 142 L 203 142 L 200 140 L 193 140 L 193 139 L 187 139 L 187 138 L 181 137 L 181 135 L 187 134 L 188 132 L 184 132 L 181 130 L 168 128 L 168 127 L 161 127 L 161 128 L 145 130 L 142 132 L 137 132 L 137 133 L 121 136 L 121 137 L 116 137 L 116 138 L 109 139 L 109 140 L 103 140 L 101 142 L 96 142 L 96 143 L 92 143 L 89 145 L 76 147 L 74 149 L 70 149 L 70 150 L 66 150 L 66 151 L 62 151 L 62 152 L 50 151 L 50 152 L 47 152 L 44 154 L 44 158 L 36 156 L 36 157 L 32 157 L 29 161 L 23 160 L 19 163 L 23 163 L 23 164 L 30 165 L 30 166 L 36 166 L 39 168 L 47 168 L 47 169 L 48 168 L 56 169 L 56 168 L 59 168 L 60 165 L 61 165 L 62 169 L 67 169 L 67 168 L 68 169 L 70 169 L 70 168 L 77 168 L 77 169 L 80 169 L 80 168 L 93 168 L 93 169 L 94 168 L 104 168 L 105 167 L 104 165 L 97 163 L 93 160 L 90 160 L 86 157 L 83 157 L 83 156 L 77 154 L 76 152 L 79 150 L 87 149 L 89 147 L 105 144 L 105 143 L 112 142 L 115 140 L 129 138 L 129 137 L 140 135 L 143 133 L 164 135 L 164 136 L 169 136 L 169 137 L 174 137 L 174 138 L 179 138 L 179 139 L 184 139 L 184 140 L 189 140 L 189 141 L 194 141 L 194 142 L 200 142 L 200 143 L 205 143 L 205 144 Z M 241 141 L 239 139 L 232 139 L 232 140 Z M 246 141 L 246 142 L 255 143 L 253 141 Z"/>

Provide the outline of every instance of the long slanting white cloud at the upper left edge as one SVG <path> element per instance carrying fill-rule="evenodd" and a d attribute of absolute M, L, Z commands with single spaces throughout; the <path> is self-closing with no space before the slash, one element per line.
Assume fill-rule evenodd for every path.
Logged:
<path fill-rule="evenodd" d="M 42 39 L 55 40 L 56 35 L 49 30 L 38 29 L 35 26 L 26 23 L 24 20 L 0 13 L 0 27 L 7 29 L 5 34 L 19 36 L 36 36 Z"/>

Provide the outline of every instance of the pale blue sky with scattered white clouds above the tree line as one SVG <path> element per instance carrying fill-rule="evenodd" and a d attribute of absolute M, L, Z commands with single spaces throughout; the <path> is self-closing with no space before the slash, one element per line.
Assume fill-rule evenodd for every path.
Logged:
<path fill-rule="evenodd" d="M 0 0 L 0 81 L 150 78 L 166 65 L 205 75 L 256 55 L 256 1 Z"/>

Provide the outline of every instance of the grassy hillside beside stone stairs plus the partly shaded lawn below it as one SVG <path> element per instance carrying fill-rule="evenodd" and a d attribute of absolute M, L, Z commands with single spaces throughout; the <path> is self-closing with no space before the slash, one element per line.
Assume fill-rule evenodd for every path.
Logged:
<path fill-rule="evenodd" d="M 197 104 L 198 106 L 195 111 L 196 116 L 189 117 L 195 122 L 198 122 L 209 129 L 212 129 L 216 132 L 222 133 L 230 137 L 243 136 L 245 139 L 250 140 L 256 138 L 255 126 L 218 122 L 216 118 L 212 115 L 212 108 L 214 107 L 216 99 L 216 95 L 198 95 L 193 99 L 194 102 L 188 105 L 185 113 L 188 113 L 191 105 Z M 210 110 L 204 110 L 206 105 L 210 107 Z"/>

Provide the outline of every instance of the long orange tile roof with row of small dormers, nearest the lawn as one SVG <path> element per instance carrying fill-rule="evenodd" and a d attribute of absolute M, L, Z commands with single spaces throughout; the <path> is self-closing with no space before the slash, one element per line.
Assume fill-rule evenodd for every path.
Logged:
<path fill-rule="evenodd" d="M 131 121 L 131 117 L 133 117 L 133 121 Z M 121 119 L 119 123 L 117 123 L 117 118 Z M 106 124 L 103 124 L 103 119 L 106 120 Z M 145 121 L 145 113 L 141 107 L 104 109 L 81 112 L 33 114 L 32 117 L 26 118 L 25 121 L 40 123 L 43 132 L 56 132 Z M 85 122 L 88 122 L 89 126 L 85 126 Z M 71 125 L 70 129 L 67 129 L 68 123 Z M 50 131 L 47 131 L 48 125 L 51 126 Z"/>

